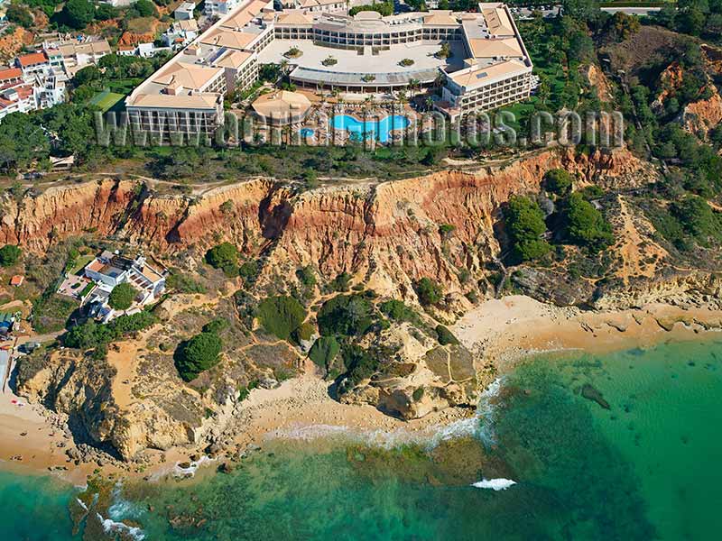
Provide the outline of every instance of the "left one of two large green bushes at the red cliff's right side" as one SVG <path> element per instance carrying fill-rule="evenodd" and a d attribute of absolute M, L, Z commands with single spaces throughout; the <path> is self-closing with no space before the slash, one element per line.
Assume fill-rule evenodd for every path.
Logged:
<path fill-rule="evenodd" d="M 512 243 L 514 263 L 537 260 L 551 251 L 549 243 L 541 238 L 547 230 L 542 209 L 529 197 L 509 198 L 509 205 L 504 208 L 504 225 Z"/>

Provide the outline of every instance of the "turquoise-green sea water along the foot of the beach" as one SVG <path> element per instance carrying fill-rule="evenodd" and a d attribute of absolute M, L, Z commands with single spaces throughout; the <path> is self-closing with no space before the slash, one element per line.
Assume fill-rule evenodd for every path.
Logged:
<path fill-rule="evenodd" d="M 153 541 L 718 539 L 720 405 L 722 343 L 538 357 L 434 445 L 274 441 L 232 473 L 126 484 L 103 512 Z M 74 495 L 0 473 L 3 538 L 82 538 Z"/>

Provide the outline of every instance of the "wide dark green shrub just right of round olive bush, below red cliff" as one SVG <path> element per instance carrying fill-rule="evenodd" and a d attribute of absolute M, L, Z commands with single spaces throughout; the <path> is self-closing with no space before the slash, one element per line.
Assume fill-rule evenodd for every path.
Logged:
<path fill-rule="evenodd" d="M 372 307 L 362 295 L 337 295 L 319 309 L 321 335 L 359 336 L 374 323 Z"/>

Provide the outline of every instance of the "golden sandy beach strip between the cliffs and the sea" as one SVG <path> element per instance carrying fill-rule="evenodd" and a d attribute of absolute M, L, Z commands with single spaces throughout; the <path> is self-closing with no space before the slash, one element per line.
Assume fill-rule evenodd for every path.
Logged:
<path fill-rule="evenodd" d="M 510 296 L 483 302 L 449 328 L 475 354 L 479 364 L 485 363 L 501 375 L 514 370 L 523 359 L 543 353 L 603 354 L 669 341 L 712 338 L 715 330 L 722 330 L 722 311 L 655 304 L 616 312 L 585 312 Z M 329 382 L 319 378 L 312 363 L 307 362 L 301 377 L 283 381 L 273 390 L 252 391 L 240 414 L 218 431 L 215 439 L 222 445 L 213 453 L 218 460 L 209 464 L 223 463 L 276 438 L 310 439 L 334 433 L 373 436 L 383 442 L 414 436 L 430 438 L 476 414 L 471 408 L 447 408 L 421 419 L 403 421 L 370 405 L 341 404 L 330 398 L 328 387 Z M 177 470 L 177 464 L 195 462 L 193 458 L 198 460 L 203 455 L 180 447 L 148 450 L 145 456 L 150 459 L 149 466 L 135 472 L 112 464 L 75 465 L 65 454 L 70 440 L 60 428 L 60 419 L 10 391 L 0 394 L 0 469 L 51 474 L 82 486 L 88 474 L 96 470 L 158 479 Z M 17 455 L 22 460 L 11 460 Z"/>

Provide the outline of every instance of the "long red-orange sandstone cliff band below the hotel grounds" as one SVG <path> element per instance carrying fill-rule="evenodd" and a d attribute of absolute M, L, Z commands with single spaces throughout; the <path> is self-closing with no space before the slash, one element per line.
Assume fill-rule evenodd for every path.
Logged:
<path fill-rule="evenodd" d="M 156 196 L 134 182 L 106 179 L 6 198 L 0 243 L 42 252 L 56 238 L 95 232 L 147 245 L 163 257 L 201 253 L 228 240 L 249 256 L 264 252 L 279 270 L 312 263 L 327 277 L 366 275 L 402 294 L 411 280 L 432 276 L 453 291 L 458 269 L 478 270 L 498 252 L 499 206 L 513 194 L 538 191 L 544 172 L 557 167 L 616 186 L 654 175 L 627 151 L 542 151 L 505 167 L 304 193 L 256 179 L 200 197 Z M 449 238 L 440 234 L 444 224 L 454 226 Z"/>

